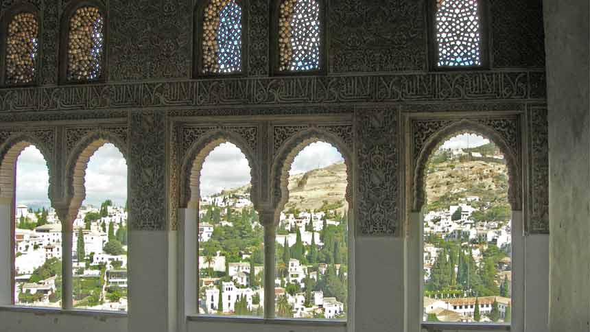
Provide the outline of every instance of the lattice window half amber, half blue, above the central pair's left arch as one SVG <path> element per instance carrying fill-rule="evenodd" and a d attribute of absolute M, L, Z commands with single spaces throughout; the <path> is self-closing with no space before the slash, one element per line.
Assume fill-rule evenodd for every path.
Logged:
<path fill-rule="evenodd" d="M 211 0 L 196 10 L 195 75 L 228 75 L 244 72 L 246 6 L 241 0 Z"/>

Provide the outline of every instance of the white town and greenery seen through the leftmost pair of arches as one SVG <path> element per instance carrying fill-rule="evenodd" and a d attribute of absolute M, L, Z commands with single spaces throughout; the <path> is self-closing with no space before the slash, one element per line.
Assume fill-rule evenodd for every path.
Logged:
<path fill-rule="evenodd" d="M 17 305 L 61 307 L 62 225 L 53 209 L 15 213 Z M 127 311 L 127 210 L 106 200 L 73 222 L 73 307 Z"/>

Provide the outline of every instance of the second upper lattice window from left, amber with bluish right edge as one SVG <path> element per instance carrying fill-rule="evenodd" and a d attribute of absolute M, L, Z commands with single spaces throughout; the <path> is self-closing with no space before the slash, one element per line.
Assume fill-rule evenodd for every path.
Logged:
<path fill-rule="evenodd" d="M 62 81 L 103 80 L 106 63 L 106 18 L 99 5 L 79 3 L 64 16 L 62 28 L 67 40 L 62 44 Z"/>

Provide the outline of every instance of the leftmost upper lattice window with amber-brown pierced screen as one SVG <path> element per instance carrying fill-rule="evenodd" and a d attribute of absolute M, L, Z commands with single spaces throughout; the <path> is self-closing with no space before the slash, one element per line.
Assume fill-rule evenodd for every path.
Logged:
<path fill-rule="evenodd" d="M 34 14 L 14 15 L 6 35 L 6 83 L 30 83 L 35 79 L 38 23 Z"/>

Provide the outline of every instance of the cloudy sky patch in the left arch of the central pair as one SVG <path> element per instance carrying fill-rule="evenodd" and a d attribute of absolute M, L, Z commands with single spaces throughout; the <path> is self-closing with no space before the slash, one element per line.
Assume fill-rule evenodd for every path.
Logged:
<path fill-rule="evenodd" d="M 224 189 L 242 187 L 250 183 L 248 159 L 232 143 L 222 143 L 205 158 L 201 169 L 202 196 L 213 195 Z"/>

